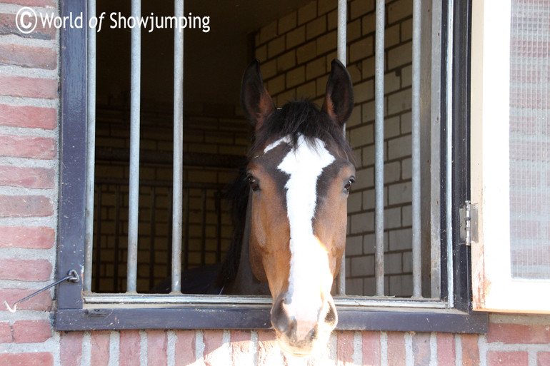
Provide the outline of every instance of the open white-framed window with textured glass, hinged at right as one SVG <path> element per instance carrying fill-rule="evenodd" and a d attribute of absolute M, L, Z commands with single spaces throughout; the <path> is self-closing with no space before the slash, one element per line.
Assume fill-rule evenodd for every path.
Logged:
<path fill-rule="evenodd" d="M 550 4 L 480 1 L 474 11 L 474 308 L 549 312 Z"/>

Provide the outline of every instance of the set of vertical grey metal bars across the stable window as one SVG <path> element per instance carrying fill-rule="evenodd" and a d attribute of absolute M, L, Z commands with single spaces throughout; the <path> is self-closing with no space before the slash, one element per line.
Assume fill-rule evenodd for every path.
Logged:
<path fill-rule="evenodd" d="M 428 1 L 413 1 L 413 40 L 412 40 L 412 277 L 413 277 L 413 298 L 422 298 L 422 255 L 421 255 L 421 211 L 428 208 L 431 217 L 431 247 L 439 248 L 439 205 L 435 204 L 440 200 L 439 186 L 441 177 L 439 174 L 439 110 L 431 106 L 431 118 L 429 118 L 429 131 L 431 138 L 428 143 L 432 145 L 430 153 L 430 186 L 431 197 L 421 197 L 421 63 L 424 57 L 429 57 L 431 68 L 431 80 L 436 83 L 431 85 L 431 95 L 439 93 L 439 78 L 434 75 L 439 72 L 439 36 L 434 36 L 437 28 L 429 23 L 429 27 L 423 25 L 421 14 L 423 6 Z M 452 2 L 452 1 L 451 1 Z M 433 1 L 434 11 L 431 19 L 439 16 L 441 26 L 441 4 Z M 429 6 L 432 6 L 429 4 Z M 452 6 L 449 6 L 452 9 Z M 337 54 L 338 58 L 346 63 L 346 8 L 347 1 L 338 1 L 338 31 L 337 31 Z M 89 16 L 96 16 L 95 0 L 88 1 Z M 183 0 L 174 1 L 176 16 L 184 16 Z M 434 12 L 439 14 L 434 15 Z M 131 15 L 141 16 L 141 1 L 131 1 Z M 376 296 L 384 296 L 384 31 L 385 31 L 385 1 L 376 0 L 376 45 L 375 45 L 375 283 Z M 451 23 L 451 21 L 449 21 Z M 422 55 L 421 31 L 431 32 L 431 54 Z M 451 33 L 449 33 L 449 36 Z M 434 41 L 435 40 L 435 41 Z M 451 44 L 451 42 L 449 42 Z M 181 253 L 182 253 L 182 225 L 183 225 L 183 82 L 184 82 L 184 35 L 183 30 L 174 29 L 174 176 L 172 195 L 172 250 L 171 250 L 171 293 L 181 293 Z M 94 230 L 94 163 L 95 163 L 95 111 L 96 111 L 96 30 L 88 31 L 88 130 L 87 130 L 87 162 L 86 162 L 86 233 L 85 233 L 85 270 L 84 270 L 84 291 L 91 292 L 92 274 L 92 246 Z M 447 55 L 448 59 L 451 57 Z M 141 29 L 139 26 L 131 29 L 131 142 L 130 142 L 130 178 L 129 178 L 129 234 L 128 234 L 128 268 L 126 293 L 136 293 L 136 272 L 137 272 L 137 245 L 138 245 L 138 198 L 139 198 L 139 134 L 140 134 L 140 78 L 141 78 Z M 448 88 L 447 90 L 449 90 Z M 439 99 L 437 99 L 439 100 Z M 450 133 L 450 128 L 448 129 Z M 447 136 L 449 138 L 449 136 Z M 448 140 L 450 141 L 450 140 Z M 449 151 L 446 151 L 449 156 Z M 450 164 L 447 164 L 450 166 Z M 448 167 L 449 168 L 449 167 Z M 449 176 L 446 177 L 449 179 Z M 434 193 L 435 192 L 435 193 Z M 449 215 L 449 210 L 447 210 Z M 450 225 L 450 220 L 447 220 Z M 451 235 L 448 235 L 450 238 Z M 450 253 L 450 252 L 449 252 Z M 450 256 L 449 256 L 450 257 Z M 431 298 L 439 298 L 440 281 L 440 252 L 439 249 L 431 251 Z M 449 259 L 450 260 L 450 259 Z M 434 265 L 436 263 L 436 265 Z M 447 268 L 452 266 L 447 265 Z M 341 275 L 337 280 L 339 295 L 345 295 L 345 256 L 341 265 Z M 449 278 L 452 273 L 448 273 Z M 452 285 L 452 280 L 448 283 Z M 449 292 L 452 293 L 452 292 Z M 451 297 L 449 297 L 451 298 Z M 451 300 L 451 299 L 450 299 Z"/>

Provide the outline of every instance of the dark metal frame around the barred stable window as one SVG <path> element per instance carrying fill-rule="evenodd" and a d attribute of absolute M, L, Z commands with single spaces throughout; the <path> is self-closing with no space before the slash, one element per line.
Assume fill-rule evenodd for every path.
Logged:
<path fill-rule="evenodd" d="M 453 55 L 453 225 L 458 208 L 469 197 L 469 35 L 471 0 L 454 1 Z M 444 10 L 446 2 L 444 2 Z M 85 1 L 61 1 L 61 16 L 86 14 Z M 443 11 L 446 14 L 446 11 Z M 446 16 L 444 16 L 445 24 Z M 445 29 L 445 27 L 444 27 Z M 446 39 L 445 36 L 441 37 Z M 441 49 L 446 48 L 445 41 Z M 442 52 L 442 63 L 446 64 Z M 58 275 L 84 268 L 84 212 L 86 182 L 86 29 L 61 32 L 61 162 Z M 445 75 L 442 75 L 445 76 Z M 445 78 L 443 79 L 445 80 Z M 446 93 L 442 92 L 441 96 Z M 442 98 L 444 99 L 444 98 Z M 445 104 L 442 104 L 445 105 Z M 441 108 L 444 111 L 445 108 Z M 442 116 L 442 121 L 445 121 Z M 443 140 L 444 141 L 444 140 Z M 444 169 L 442 169 L 444 171 Z M 445 191 L 445 190 L 442 190 Z M 444 215 L 442 215 L 444 217 Z M 443 225 L 442 227 L 445 227 Z M 444 233 L 442 233 L 444 236 Z M 340 307 L 340 330 L 394 330 L 417 332 L 486 332 L 488 316 L 471 312 L 470 253 L 459 245 L 454 230 L 454 309 Z M 444 239 L 444 238 L 443 238 Z M 442 258 L 445 253 L 442 245 Z M 442 289 L 446 288 L 442 273 Z M 141 309 L 117 304 L 85 309 L 83 281 L 61 283 L 56 310 L 57 330 L 119 329 L 261 329 L 269 328 L 267 305 L 159 305 Z M 443 298 L 448 294 L 442 291 Z"/>

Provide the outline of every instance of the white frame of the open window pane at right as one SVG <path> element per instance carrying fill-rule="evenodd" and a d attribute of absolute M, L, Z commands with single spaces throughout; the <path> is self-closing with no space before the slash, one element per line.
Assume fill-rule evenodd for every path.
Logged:
<path fill-rule="evenodd" d="M 473 306 L 484 311 L 548 313 L 550 281 L 511 276 L 511 1 L 477 1 L 473 26 L 479 34 L 472 53 L 476 75 L 471 189 L 472 203 L 479 206 L 479 239 L 472 243 Z"/>

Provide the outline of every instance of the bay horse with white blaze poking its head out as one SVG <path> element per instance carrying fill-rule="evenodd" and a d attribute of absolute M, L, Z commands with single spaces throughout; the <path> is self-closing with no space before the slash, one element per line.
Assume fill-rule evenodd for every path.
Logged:
<path fill-rule="evenodd" d="M 311 355 L 338 322 L 331 287 L 355 175 L 343 132 L 354 106 L 351 78 L 334 60 L 321 109 L 303 100 L 276 108 L 255 60 L 244 72 L 241 103 L 254 137 L 233 189 L 233 255 L 218 286 L 225 294 L 271 294 L 279 346 Z"/>

